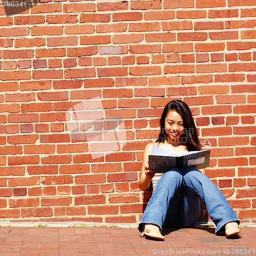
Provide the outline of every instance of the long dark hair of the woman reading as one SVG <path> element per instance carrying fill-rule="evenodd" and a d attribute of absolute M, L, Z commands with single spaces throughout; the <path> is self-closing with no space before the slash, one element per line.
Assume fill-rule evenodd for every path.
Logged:
<path fill-rule="evenodd" d="M 192 113 L 189 106 L 182 100 L 170 101 L 163 110 L 160 119 L 160 133 L 157 142 L 164 142 L 168 137 L 164 126 L 165 117 L 170 110 L 174 110 L 179 113 L 183 120 L 184 133 L 181 137 L 181 141 L 186 145 L 188 151 L 199 151 L 202 150 L 200 141 L 197 134 L 196 124 L 194 122 Z"/>

